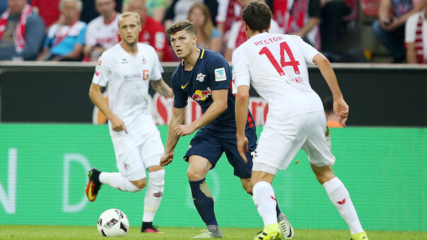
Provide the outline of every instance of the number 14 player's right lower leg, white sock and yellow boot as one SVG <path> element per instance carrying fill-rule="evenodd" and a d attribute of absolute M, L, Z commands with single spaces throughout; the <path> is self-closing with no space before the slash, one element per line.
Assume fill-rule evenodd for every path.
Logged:
<path fill-rule="evenodd" d="M 352 236 L 361 236 L 368 239 L 360 224 L 358 214 L 355 210 L 350 194 L 346 186 L 332 172 L 331 166 L 315 166 L 311 164 L 314 174 L 319 183 L 323 185 L 332 204 L 336 207 L 341 217 L 346 220 Z"/>

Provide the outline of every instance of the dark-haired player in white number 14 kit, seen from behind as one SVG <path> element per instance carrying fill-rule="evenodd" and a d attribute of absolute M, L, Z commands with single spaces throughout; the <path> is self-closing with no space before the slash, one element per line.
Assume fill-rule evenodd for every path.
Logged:
<path fill-rule="evenodd" d="M 328 59 L 296 35 L 268 33 L 271 10 L 259 1 L 242 12 L 249 40 L 234 52 L 234 89 L 237 88 L 237 147 L 244 158 L 248 140 L 244 134 L 248 114 L 249 84 L 268 101 L 266 125 L 256 148 L 251 186 L 254 202 L 264 223 L 256 239 L 280 239 L 275 217 L 275 193 L 271 182 L 285 169 L 300 148 L 309 156 L 317 180 L 324 186 L 350 228 L 353 239 L 368 239 L 359 222 L 348 190 L 334 176 L 329 130 L 321 100 L 309 85 L 307 64 L 316 64 L 334 97 L 334 112 L 344 125 L 348 105 Z"/>

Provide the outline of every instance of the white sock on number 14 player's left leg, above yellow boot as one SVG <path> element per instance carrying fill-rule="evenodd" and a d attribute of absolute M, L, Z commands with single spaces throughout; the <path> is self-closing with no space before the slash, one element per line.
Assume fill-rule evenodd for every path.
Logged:
<path fill-rule="evenodd" d="M 264 226 L 278 223 L 275 206 L 275 194 L 273 187 L 268 182 L 258 182 L 252 190 L 254 203 L 258 209 L 259 215 L 263 219 Z"/>

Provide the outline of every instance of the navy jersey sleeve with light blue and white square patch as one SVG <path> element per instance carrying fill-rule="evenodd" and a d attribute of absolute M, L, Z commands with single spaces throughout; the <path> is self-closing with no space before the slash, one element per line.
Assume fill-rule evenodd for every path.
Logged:
<path fill-rule="evenodd" d="M 228 62 L 217 52 L 211 52 L 209 62 L 206 64 L 206 75 L 210 81 L 212 90 L 229 89 L 229 81 L 232 79 Z"/>

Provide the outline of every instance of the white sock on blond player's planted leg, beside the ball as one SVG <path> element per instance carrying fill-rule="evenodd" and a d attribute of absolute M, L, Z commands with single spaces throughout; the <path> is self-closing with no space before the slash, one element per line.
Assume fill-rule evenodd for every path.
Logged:
<path fill-rule="evenodd" d="M 142 222 L 153 222 L 163 197 L 164 169 L 148 173 L 148 188 L 144 200 L 144 216 Z"/>

